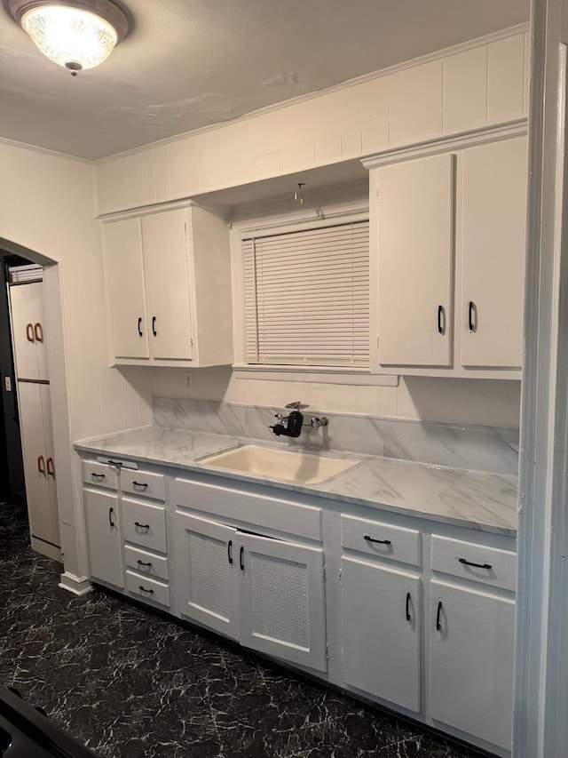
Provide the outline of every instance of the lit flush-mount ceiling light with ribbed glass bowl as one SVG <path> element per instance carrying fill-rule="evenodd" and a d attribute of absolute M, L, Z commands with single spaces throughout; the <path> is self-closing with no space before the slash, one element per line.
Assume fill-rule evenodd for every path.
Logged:
<path fill-rule="evenodd" d="M 9 0 L 12 18 L 49 59 L 73 76 L 106 60 L 128 32 L 110 0 Z"/>

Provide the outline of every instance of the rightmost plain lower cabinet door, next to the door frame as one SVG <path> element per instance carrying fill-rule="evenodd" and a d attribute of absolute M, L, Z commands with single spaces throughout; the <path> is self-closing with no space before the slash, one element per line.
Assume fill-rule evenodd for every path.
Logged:
<path fill-rule="evenodd" d="M 430 716 L 510 750 L 515 601 L 431 583 Z"/>

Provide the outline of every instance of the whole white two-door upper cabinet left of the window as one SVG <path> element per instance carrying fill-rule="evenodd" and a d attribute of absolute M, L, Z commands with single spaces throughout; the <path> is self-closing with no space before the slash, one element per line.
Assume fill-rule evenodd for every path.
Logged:
<path fill-rule="evenodd" d="M 109 221 L 105 265 L 114 363 L 233 361 L 223 215 L 191 204 Z"/>

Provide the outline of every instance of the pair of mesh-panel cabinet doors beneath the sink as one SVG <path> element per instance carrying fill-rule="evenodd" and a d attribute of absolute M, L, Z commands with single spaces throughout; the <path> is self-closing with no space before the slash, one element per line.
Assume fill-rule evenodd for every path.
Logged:
<path fill-rule="evenodd" d="M 323 550 L 176 513 L 181 613 L 247 647 L 325 671 Z"/>

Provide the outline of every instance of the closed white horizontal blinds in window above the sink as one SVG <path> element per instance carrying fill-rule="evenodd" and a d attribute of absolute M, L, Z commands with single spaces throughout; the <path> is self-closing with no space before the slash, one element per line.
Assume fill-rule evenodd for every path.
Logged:
<path fill-rule="evenodd" d="M 242 242 L 247 363 L 369 365 L 368 221 Z"/>

